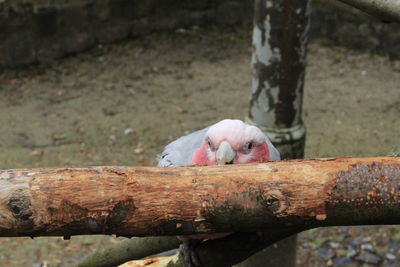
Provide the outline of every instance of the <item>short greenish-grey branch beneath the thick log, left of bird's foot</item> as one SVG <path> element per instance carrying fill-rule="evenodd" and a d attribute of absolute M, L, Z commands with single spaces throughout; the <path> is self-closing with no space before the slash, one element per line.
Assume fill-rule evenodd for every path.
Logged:
<path fill-rule="evenodd" d="M 76 267 L 113 267 L 130 260 L 138 260 L 179 247 L 175 236 L 134 237 L 96 251 L 80 261 Z"/>

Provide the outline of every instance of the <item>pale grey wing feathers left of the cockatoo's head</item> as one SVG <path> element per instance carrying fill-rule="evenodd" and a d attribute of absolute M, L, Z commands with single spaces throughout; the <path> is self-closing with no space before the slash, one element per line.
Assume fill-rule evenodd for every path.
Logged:
<path fill-rule="evenodd" d="M 208 128 L 182 136 L 166 145 L 164 151 L 157 156 L 157 166 L 173 167 L 191 165 L 193 155 L 204 141 Z"/>

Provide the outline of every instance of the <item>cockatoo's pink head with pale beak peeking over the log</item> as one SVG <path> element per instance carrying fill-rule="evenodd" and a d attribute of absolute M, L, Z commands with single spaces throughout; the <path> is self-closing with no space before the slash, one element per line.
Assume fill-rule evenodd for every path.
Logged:
<path fill-rule="evenodd" d="M 240 120 L 223 120 L 212 125 L 192 163 L 222 165 L 270 160 L 269 146 L 263 132 Z"/>

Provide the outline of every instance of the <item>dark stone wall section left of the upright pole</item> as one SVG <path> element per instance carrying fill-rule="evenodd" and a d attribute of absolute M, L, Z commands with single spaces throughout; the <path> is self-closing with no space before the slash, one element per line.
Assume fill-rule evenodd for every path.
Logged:
<path fill-rule="evenodd" d="M 251 6 L 241 0 L 0 0 L 0 65 L 47 62 L 151 31 L 249 21 Z"/>

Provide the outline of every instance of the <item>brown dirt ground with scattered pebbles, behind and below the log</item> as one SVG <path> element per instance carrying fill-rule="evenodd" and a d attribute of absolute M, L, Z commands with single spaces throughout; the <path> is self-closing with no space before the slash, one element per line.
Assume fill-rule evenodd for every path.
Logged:
<path fill-rule="evenodd" d="M 249 29 L 181 30 L 1 71 L 0 167 L 154 165 L 169 141 L 247 115 L 250 39 Z M 399 89 L 400 62 L 312 44 L 306 157 L 398 153 Z M 1 238 L 0 265 L 65 266 L 116 240 Z M 400 266 L 395 226 L 310 230 L 298 243 L 298 266 Z"/>

